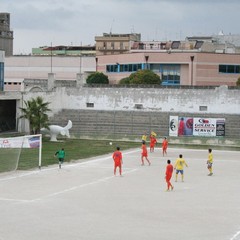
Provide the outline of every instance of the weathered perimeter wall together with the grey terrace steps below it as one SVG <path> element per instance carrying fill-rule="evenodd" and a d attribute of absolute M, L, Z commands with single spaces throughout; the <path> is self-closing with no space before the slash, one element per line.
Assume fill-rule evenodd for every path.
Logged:
<path fill-rule="evenodd" d="M 51 124 L 73 122 L 72 137 L 136 140 L 145 131 L 168 136 L 169 116 L 177 115 L 225 118 L 226 137 L 221 139 L 230 144 L 240 139 L 240 89 L 236 88 L 55 87 L 47 92 L 24 92 L 22 100 L 36 96 L 51 103 Z M 26 124 L 19 122 L 19 130 L 26 131 Z M 218 143 L 219 139 L 211 141 Z"/>

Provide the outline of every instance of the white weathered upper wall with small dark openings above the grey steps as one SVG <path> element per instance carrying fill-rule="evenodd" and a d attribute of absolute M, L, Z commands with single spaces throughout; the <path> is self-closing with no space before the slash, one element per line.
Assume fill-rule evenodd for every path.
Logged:
<path fill-rule="evenodd" d="M 62 109 L 160 111 L 202 114 L 240 114 L 240 89 L 80 87 L 49 92 L 25 92 L 24 100 L 42 96 L 52 114 Z"/>

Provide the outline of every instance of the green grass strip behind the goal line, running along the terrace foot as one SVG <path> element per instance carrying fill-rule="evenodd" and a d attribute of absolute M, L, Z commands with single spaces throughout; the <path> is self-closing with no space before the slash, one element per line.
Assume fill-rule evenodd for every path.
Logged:
<path fill-rule="evenodd" d="M 90 157 L 96 157 L 104 154 L 113 153 L 116 147 L 121 150 L 130 148 L 141 148 L 141 140 L 139 142 L 113 141 L 112 145 L 108 140 L 85 140 L 85 139 L 59 139 L 58 142 L 51 142 L 48 138 L 43 138 L 42 148 L 42 167 L 57 164 L 58 159 L 54 157 L 57 150 L 62 147 L 65 149 L 65 162 L 75 160 L 84 160 Z M 149 143 L 148 143 L 149 146 Z M 161 147 L 161 143 L 157 144 Z M 169 144 L 169 148 L 192 148 L 192 149 L 219 149 L 219 150 L 235 150 L 239 151 L 239 147 L 229 146 L 210 146 L 210 145 L 191 145 L 191 144 Z M 19 157 L 18 170 L 36 169 L 39 165 L 39 149 L 0 149 L 0 172 L 13 171 L 16 168 L 17 159 Z"/>

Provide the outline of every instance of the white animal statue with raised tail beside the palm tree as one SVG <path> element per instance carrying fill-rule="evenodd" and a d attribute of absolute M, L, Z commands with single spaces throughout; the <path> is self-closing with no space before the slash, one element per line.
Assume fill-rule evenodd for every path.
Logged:
<path fill-rule="evenodd" d="M 58 125 L 50 125 L 49 129 L 42 128 L 41 132 L 43 134 L 50 134 L 50 141 L 56 142 L 57 141 L 57 136 L 61 134 L 62 136 L 67 136 L 68 138 L 70 137 L 69 134 L 69 129 L 72 128 L 72 121 L 68 120 L 68 124 L 65 127 L 61 127 Z"/>

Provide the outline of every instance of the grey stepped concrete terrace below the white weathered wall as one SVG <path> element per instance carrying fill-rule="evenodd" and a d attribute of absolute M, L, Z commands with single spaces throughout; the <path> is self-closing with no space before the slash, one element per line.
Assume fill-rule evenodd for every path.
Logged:
<path fill-rule="evenodd" d="M 74 136 L 117 136 L 125 138 L 141 138 L 144 132 L 157 133 L 158 138 L 169 135 L 169 117 L 202 117 L 202 114 L 144 112 L 144 111 L 97 111 L 63 109 L 50 119 L 51 124 L 66 125 L 68 120 L 73 122 L 70 135 Z M 238 115 L 204 114 L 209 118 L 225 118 L 226 138 L 239 138 L 240 121 Z"/>

